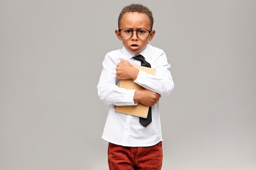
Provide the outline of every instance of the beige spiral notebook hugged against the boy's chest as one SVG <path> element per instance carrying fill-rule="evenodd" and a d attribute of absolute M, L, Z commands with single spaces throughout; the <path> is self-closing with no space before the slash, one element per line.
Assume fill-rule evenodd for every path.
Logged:
<path fill-rule="evenodd" d="M 146 73 L 155 75 L 155 68 L 132 65 L 138 70 L 145 71 Z M 133 82 L 133 79 L 121 79 L 119 80 L 119 87 L 126 88 L 127 90 L 141 90 L 142 86 Z M 148 116 L 148 106 L 141 104 L 140 102 L 136 106 L 115 106 L 115 111 L 126 113 L 128 115 L 134 115 L 138 117 L 146 118 Z"/>

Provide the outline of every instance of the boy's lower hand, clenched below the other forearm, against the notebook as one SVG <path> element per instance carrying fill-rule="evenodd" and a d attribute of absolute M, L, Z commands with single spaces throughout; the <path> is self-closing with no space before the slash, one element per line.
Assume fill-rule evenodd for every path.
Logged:
<path fill-rule="evenodd" d="M 136 90 L 134 93 L 134 101 L 138 101 L 146 106 L 154 106 L 159 101 L 161 95 L 153 91 L 142 89 Z"/>

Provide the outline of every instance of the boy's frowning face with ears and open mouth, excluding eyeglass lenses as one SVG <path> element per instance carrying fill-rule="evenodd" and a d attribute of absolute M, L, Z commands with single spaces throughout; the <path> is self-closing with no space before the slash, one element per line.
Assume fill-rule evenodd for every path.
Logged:
<path fill-rule="evenodd" d="M 117 38 L 123 42 L 124 47 L 132 53 L 140 53 L 141 51 L 146 49 L 148 41 L 151 41 L 155 35 L 155 30 L 152 30 L 146 40 L 140 40 L 137 37 L 135 30 L 147 29 L 150 31 L 150 22 L 148 16 L 145 13 L 129 12 L 124 14 L 123 18 L 120 21 L 119 29 L 124 28 L 128 28 L 134 31 L 130 39 L 123 39 L 118 29 L 115 30 L 115 33 L 117 35 Z"/>

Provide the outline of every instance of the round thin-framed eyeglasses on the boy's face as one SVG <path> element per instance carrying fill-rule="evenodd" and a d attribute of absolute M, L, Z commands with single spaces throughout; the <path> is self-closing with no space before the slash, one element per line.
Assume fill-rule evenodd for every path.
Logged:
<path fill-rule="evenodd" d="M 121 37 L 124 39 L 124 40 L 128 40 L 132 37 L 132 34 L 133 34 L 133 30 L 131 29 L 119 29 L 118 30 Z M 151 31 L 147 30 L 147 29 L 138 29 L 138 30 L 135 30 L 136 31 L 136 34 L 137 34 L 137 37 L 140 39 L 140 40 L 146 40 L 148 37 L 149 37 L 149 34 L 151 33 Z"/>

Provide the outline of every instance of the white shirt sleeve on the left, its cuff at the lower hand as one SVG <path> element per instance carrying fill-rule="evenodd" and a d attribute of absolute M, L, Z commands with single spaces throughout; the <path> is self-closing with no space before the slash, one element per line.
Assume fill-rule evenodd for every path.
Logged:
<path fill-rule="evenodd" d="M 99 98 L 106 104 L 114 104 L 115 106 L 137 105 L 133 97 L 135 90 L 126 90 L 117 86 L 116 79 L 117 62 L 121 59 L 112 59 L 109 54 L 103 60 L 103 69 L 99 83 L 97 85 Z"/>

